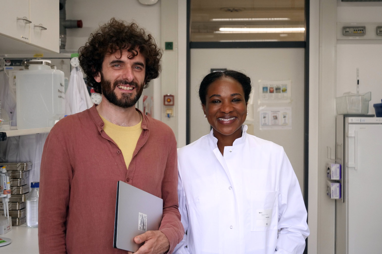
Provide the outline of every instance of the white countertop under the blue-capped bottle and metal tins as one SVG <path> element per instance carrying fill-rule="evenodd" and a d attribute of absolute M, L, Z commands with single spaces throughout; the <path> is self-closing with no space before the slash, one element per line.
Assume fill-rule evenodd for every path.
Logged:
<path fill-rule="evenodd" d="M 12 230 L 0 238 L 10 238 L 12 242 L 0 247 L 0 253 L 6 254 L 39 254 L 39 230 L 29 228 L 26 223 L 19 226 L 12 226 Z"/>

